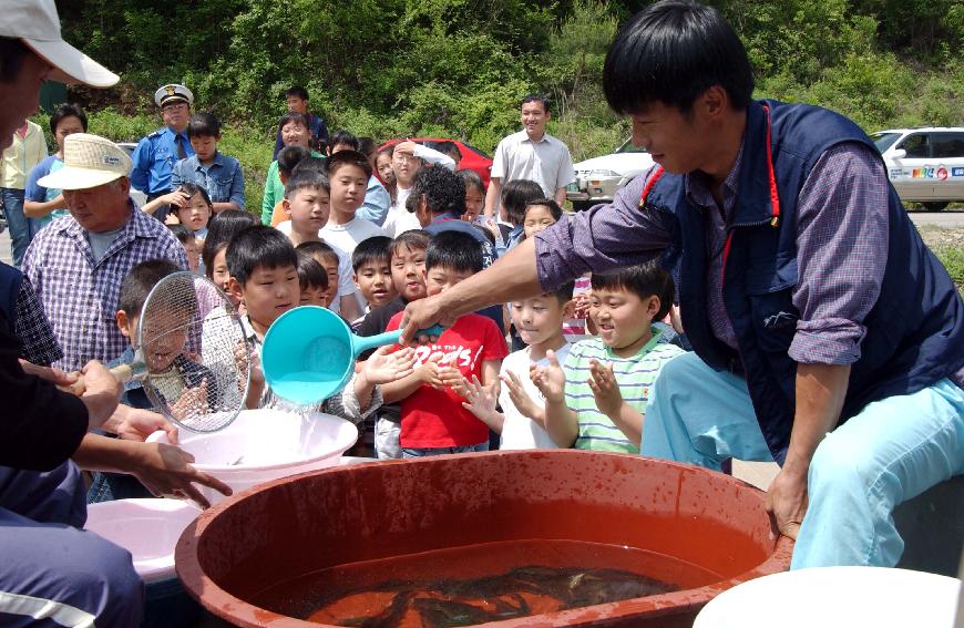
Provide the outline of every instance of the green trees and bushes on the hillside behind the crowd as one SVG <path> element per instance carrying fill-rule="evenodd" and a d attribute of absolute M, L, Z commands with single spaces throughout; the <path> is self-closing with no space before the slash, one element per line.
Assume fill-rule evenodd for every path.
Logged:
<path fill-rule="evenodd" d="M 721 0 L 743 39 L 757 95 L 807 101 L 868 131 L 964 123 L 964 2 Z M 227 122 L 223 151 L 245 166 L 252 206 L 284 89 L 304 84 L 330 130 L 386 140 L 459 137 L 491 152 L 524 94 L 553 96 L 550 132 L 576 161 L 628 134 L 602 96 L 608 42 L 646 2 L 557 0 L 71 0 L 65 38 L 119 71 L 75 91 L 92 131 L 135 141 L 160 119 L 157 85 L 183 82 Z"/>

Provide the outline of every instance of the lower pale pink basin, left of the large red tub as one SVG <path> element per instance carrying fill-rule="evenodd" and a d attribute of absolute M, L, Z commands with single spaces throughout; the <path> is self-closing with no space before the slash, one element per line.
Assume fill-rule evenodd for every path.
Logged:
<path fill-rule="evenodd" d="M 131 553 L 145 583 L 174 577 L 174 546 L 201 508 L 181 500 L 117 500 L 88 505 L 84 529 Z"/>

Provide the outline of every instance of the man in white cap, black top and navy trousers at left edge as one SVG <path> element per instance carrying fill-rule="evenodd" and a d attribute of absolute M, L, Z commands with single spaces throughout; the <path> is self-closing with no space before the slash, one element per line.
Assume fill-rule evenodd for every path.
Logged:
<path fill-rule="evenodd" d="M 47 79 L 95 87 L 117 82 L 63 41 L 53 0 L 4 0 L 0 150 L 37 111 Z M 0 469 L 0 622 L 137 626 L 143 584 L 127 552 L 78 529 L 86 516 L 83 482 L 68 460 L 88 430 L 113 414 L 120 387 L 96 361 L 81 364 L 81 398 L 54 388 L 73 380 L 63 372 L 21 367 L 9 288 L 0 286 L 0 465 L 7 465 Z"/>

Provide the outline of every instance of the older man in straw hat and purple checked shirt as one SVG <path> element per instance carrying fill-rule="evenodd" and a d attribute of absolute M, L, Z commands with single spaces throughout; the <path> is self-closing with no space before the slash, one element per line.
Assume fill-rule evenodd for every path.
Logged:
<path fill-rule="evenodd" d="M 158 258 L 187 268 L 177 238 L 131 202 L 130 171 L 131 159 L 113 142 L 74 133 L 64 141 L 63 167 L 40 179 L 63 191 L 71 215 L 38 234 L 23 271 L 63 349 L 54 366 L 66 371 L 127 348 L 114 313 L 131 268 Z"/>

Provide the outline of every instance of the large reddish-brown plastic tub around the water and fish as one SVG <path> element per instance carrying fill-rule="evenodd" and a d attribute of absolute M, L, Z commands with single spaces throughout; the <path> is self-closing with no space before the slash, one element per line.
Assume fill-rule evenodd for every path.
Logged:
<path fill-rule="evenodd" d="M 341 466 L 208 509 L 181 536 L 176 570 L 192 596 L 236 626 L 296 628 L 318 624 L 250 600 L 336 565 L 515 539 L 589 542 L 711 576 L 685 590 L 486 626 L 690 626 L 720 591 L 789 567 L 792 542 L 776 532 L 763 498 L 704 469 L 572 450 Z"/>

